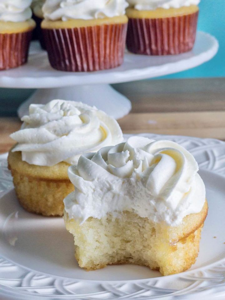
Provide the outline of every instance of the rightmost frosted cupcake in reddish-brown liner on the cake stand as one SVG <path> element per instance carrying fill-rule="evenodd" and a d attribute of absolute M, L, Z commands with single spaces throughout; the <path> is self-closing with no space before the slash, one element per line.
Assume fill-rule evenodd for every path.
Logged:
<path fill-rule="evenodd" d="M 200 0 L 127 1 L 127 48 L 130 52 L 167 55 L 193 48 Z"/>

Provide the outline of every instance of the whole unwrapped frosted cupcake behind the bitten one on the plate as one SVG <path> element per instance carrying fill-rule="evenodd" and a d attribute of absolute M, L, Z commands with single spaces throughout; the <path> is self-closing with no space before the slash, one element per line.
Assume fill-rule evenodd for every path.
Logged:
<path fill-rule="evenodd" d="M 74 190 L 68 167 L 85 152 L 121 142 L 122 131 L 106 113 L 74 101 L 31 104 L 21 120 L 8 155 L 18 200 L 28 212 L 62 216 L 63 199 Z"/>

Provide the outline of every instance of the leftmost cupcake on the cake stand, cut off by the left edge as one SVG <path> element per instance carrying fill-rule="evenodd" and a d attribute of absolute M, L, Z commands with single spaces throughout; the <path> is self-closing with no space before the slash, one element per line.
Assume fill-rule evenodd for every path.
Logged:
<path fill-rule="evenodd" d="M 35 22 L 31 19 L 31 0 L 0 2 L 0 70 L 27 62 Z"/>

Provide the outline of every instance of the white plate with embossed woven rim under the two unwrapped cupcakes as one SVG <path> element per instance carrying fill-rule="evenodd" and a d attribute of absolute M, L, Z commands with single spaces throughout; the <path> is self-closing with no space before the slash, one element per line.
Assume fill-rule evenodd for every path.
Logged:
<path fill-rule="evenodd" d="M 201 168 L 209 212 L 199 256 L 192 268 L 165 277 L 147 267 L 132 265 L 84 271 L 74 259 L 73 237 L 66 231 L 63 219 L 36 216 L 20 207 L 3 155 L 0 299 L 225 298 L 225 143 L 214 139 L 143 135 L 180 143 L 195 156 Z"/>

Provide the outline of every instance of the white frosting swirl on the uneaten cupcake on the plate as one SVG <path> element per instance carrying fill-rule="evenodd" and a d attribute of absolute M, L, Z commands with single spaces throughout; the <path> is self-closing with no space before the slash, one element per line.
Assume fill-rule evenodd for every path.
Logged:
<path fill-rule="evenodd" d="M 29 164 L 77 164 L 81 154 L 123 141 L 114 118 L 81 102 L 31 104 L 29 116 L 21 120 L 21 130 L 10 135 L 18 142 L 12 152 L 22 151 L 22 160 Z"/>

